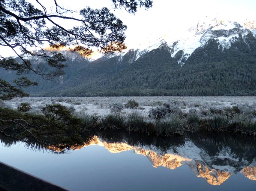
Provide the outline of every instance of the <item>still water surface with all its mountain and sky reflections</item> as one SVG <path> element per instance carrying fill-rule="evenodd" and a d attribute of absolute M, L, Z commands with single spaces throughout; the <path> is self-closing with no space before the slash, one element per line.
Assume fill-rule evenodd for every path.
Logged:
<path fill-rule="evenodd" d="M 1 137 L 0 161 L 69 190 L 256 190 L 256 141 L 241 135 L 95 133 L 69 150 Z"/>

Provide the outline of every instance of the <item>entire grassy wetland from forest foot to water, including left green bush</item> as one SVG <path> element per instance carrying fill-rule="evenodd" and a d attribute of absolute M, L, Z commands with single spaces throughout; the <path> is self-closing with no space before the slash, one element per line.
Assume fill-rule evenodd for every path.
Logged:
<path fill-rule="evenodd" d="M 53 134 L 55 129 L 65 140 L 79 139 L 85 131 L 118 130 L 164 137 L 256 135 L 256 97 L 27 97 L 1 102 L 0 108 L 5 131 L 8 124 L 30 129 L 27 133 Z"/>

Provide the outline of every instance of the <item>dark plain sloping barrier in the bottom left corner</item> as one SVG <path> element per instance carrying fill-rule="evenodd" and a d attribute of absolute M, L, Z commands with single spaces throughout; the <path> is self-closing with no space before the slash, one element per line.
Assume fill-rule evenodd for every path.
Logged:
<path fill-rule="evenodd" d="M 0 162 L 0 191 L 67 191 L 36 176 Z"/>

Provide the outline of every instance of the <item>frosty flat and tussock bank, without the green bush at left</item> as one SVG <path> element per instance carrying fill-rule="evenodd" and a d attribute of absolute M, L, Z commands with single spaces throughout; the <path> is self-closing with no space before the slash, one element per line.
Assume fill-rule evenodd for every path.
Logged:
<path fill-rule="evenodd" d="M 256 135 L 256 97 L 24 97 L 1 108 L 45 115 L 62 105 L 83 121 L 82 129 L 117 130 L 169 136 L 187 131 Z M 28 109 L 22 110 L 24 106 Z"/>

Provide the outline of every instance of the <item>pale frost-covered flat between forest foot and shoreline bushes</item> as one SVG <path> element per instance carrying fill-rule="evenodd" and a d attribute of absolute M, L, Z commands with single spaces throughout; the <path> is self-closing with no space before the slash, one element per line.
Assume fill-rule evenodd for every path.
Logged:
<path fill-rule="evenodd" d="M 139 103 L 139 112 L 148 115 L 152 107 L 163 103 L 178 106 L 183 112 L 195 110 L 224 109 L 225 107 L 239 106 L 243 110 L 256 103 L 256 97 L 24 97 L 2 101 L 1 105 L 16 109 L 20 103 L 30 103 L 33 110 L 41 109 L 46 104 L 60 103 L 64 106 L 73 106 L 76 111 L 98 113 L 103 116 L 110 113 L 111 106 L 116 103 L 126 104 L 129 100 Z M 123 113 L 133 109 L 124 109 Z"/>

